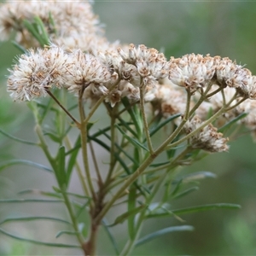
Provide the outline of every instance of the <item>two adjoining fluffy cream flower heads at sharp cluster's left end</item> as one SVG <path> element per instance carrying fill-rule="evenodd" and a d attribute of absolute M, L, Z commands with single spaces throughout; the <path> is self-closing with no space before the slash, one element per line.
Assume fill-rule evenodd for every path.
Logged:
<path fill-rule="evenodd" d="M 55 46 L 29 50 L 20 56 L 10 73 L 8 90 L 15 100 L 21 101 L 45 96 L 52 86 L 78 93 L 83 85 L 90 84 L 93 90 L 106 94 L 104 84 L 111 79 L 108 67 L 94 56 L 81 50 L 67 53 Z"/>

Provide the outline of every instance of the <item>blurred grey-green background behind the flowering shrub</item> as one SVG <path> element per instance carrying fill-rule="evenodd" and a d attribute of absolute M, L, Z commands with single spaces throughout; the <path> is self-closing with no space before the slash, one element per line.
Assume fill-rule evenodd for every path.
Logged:
<path fill-rule="evenodd" d="M 93 9 L 105 24 L 109 41 L 124 44 L 145 44 L 161 49 L 169 58 L 188 53 L 228 56 L 246 65 L 256 74 L 256 3 L 255 2 L 174 2 L 174 1 L 95 1 Z M 0 14 L 1 15 L 1 14 Z M 32 114 L 24 102 L 12 102 L 6 93 L 7 68 L 20 54 L 9 43 L 0 44 L 0 128 L 35 141 Z M 39 149 L 25 147 L 0 135 L 0 161 L 12 158 L 44 163 Z M 241 210 L 215 210 L 189 214 L 184 224 L 195 227 L 193 232 L 172 233 L 138 247 L 133 255 L 256 255 L 256 143 L 250 135 L 230 142 L 230 152 L 211 154 L 183 172 L 207 171 L 215 179 L 201 182 L 200 189 L 174 202 L 173 208 L 192 207 L 207 203 L 236 203 Z M 73 177 L 73 185 L 77 183 Z M 50 190 L 55 180 L 48 173 L 32 167 L 13 166 L 0 172 L 0 197 L 17 198 L 22 189 Z M 64 207 L 55 205 L 1 204 L 0 219 L 27 215 L 32 211 L 54 212 L 65 216 Z M 148 221 L 143 231 L 178 225 L 177 219 Z M 11 224 L 9 230 L 45 241 L 53 224 Z M 55 229 L 61 226 L 54 225 Z M 121 237 L 124 226 L 114 230 Z M 120 243 L 125 243 L 120 238 Z M 72 240 L 72 238 L 68 238 Z M 105 235 L 101 237 L 99 254 L 111 255 L 113 249 Z M 0 255 L 79 255 L 79 251 L 33 246 L 0 235 Z"/>

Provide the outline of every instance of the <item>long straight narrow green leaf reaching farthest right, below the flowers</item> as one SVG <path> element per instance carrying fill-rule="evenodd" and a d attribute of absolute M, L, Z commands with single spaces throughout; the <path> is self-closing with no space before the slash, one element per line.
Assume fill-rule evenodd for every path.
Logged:
<path fill-rule="evenodd" d="M 230 203 L 218 203 L 218 204 L 209 204 L 209 205 L 203 205 L 198 207 L 187 207 L 182 209 L 176 209 L 166 212 L 160 212 L 160 213 L 152 213 L 148 214 L 148 218 L 155 218 L 155 217 L 169 217 L 174 214 L 181 215 L 181 214 L 187 214 L 187 213 L 193 213 L 193 212 L 206 212 L 206 211 L 212 211 L 216 209 L 230 209 L 230 210 L 236 210 L 240 209 L 241 206 L 236 204 L 230 204 Z"/>

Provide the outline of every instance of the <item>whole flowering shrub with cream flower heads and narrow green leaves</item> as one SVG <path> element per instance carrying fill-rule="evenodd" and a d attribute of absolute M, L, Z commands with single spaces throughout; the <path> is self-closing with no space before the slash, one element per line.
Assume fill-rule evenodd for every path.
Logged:
<path fill-rule="evenodd" d="M 188 182 L 187 177 L 178 177 L 179 166 L 192 164 L 207 153 L 228 151 L 227 134 L 232 126 L 246 125 L 254 133 L 256 79 L 247 68 L 220 56 L 189 54 L 168 61 L 163 53 L 143 44 L 111 44 L 90 3 L 84 1 L 9 2 L 0 11 L 0 38 L 5 40 L 15 31 L 16 45 L 23 52 L 9 70 L 7 90 L 15 101 L 28 102 L 34 113 L 38 135 L 34 146 L 42 148 L 50 165 L 43 169 L 54 173 L 58 183 L 45 196 L 54 195 L 65 203 L 73 226 L 58 236 L 76 236 L 78 244 L 22 240 L 79 247 L 84 255 L 96 255 L 99 226 L 104 225 L 111 234 L 113 225 L 126 222 L 125 247 L 121 249 L 115 242 L 113 246 L 116 254 L 127 255 L 167 232 L 192 230 L 180 225 L 141 237 L 148 218 L 239 207 L 215 204 L 172 209 L 170 202 L 188 194 L 186 190 L 177 193 Z M 66 96 L 73 107 L 68 106 Z M 93 117 L 102 106 L 109 124 L 94 131 Z M 56 120 L 50 129 L 49 114 Z M 72 141 L 69 134 L 74 130 L 77 138 Z M 46 136 L 58 145 L 55 154 L 49 150 Z M 105 170 L 98 166 L 101 159 L 96 147 L 109 153 Z M 69 190 L 75 170 L 83 195 Z M 196 173 L 194 179 L 208 175 Z M 160 197 L 156 196 L 159 191 Z M 73 198 L 79 198 L 79 204 Z M 107 213 L 117 204 L 125 205 L 126 212 L 117 212 L 108 225 Z M 78 216 L 84 209 L 90 223 L 81 224 Z"/>

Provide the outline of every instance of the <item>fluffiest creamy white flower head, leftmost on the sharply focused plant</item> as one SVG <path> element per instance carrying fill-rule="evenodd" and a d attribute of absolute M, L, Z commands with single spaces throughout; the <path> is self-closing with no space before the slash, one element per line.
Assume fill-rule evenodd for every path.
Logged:
<path fill-rule="evenodd" d="M 8 91 L 21 101 L 46 96 L 49 87 L 61 88 L 65 83 L 66 62 L 67 55 L 60 48 L 29 50 L 9 70 Z"/>

